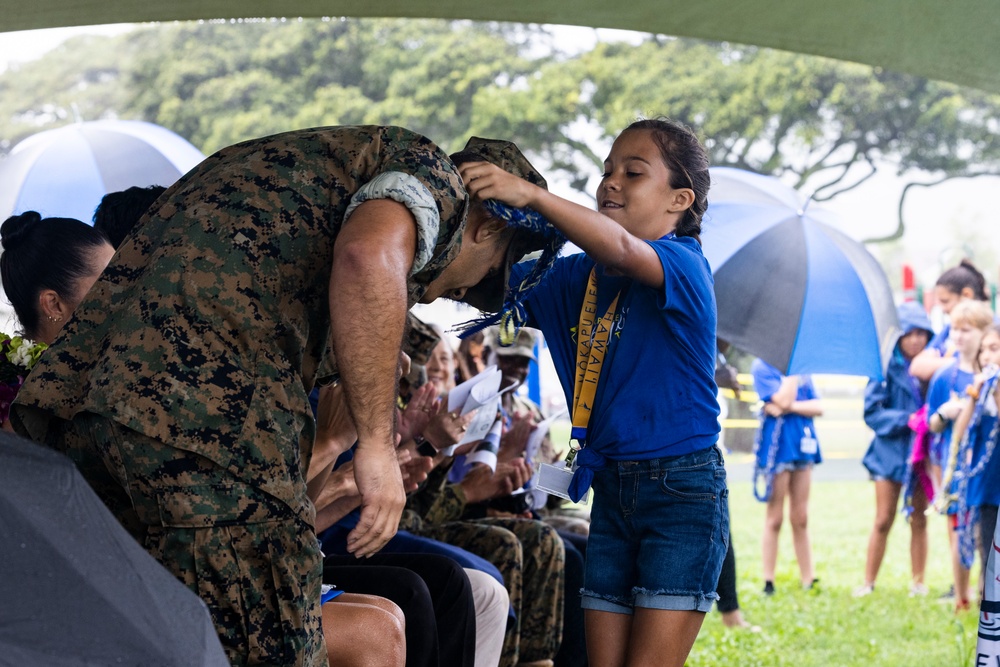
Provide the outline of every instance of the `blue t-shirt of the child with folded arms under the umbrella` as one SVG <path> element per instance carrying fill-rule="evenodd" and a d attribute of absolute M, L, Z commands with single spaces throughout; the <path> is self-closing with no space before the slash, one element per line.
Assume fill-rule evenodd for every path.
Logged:
<path fill-rule="evenodd" d="M 754 359 L 750 364 L 750 373 L 753 375 L 753 385 L 760 400 L 765 403 L 781 387 L 781 381 L 785 378 L 774 366 L 761 359 Z M 810 401 L 819 398 L 816 388 L 813 386 L 812 378 L 803 375 L 799 378 L 799 388 L 795 394 L 796 401 Z M 758 433 L 759 446 L 757 447 L 757 464 L 761 468 L 766 468 L 770 458 L 771 447 L 774 445 L 775 429 L 778 427 L 779 418 L 767 415 L 761 422 Z M 774 463 L 791 463 L 797 461 L 810 461 L 812 463 L 822 463 L 823 456 L 819 450 L 819 442 L 816 437 L 816 426 L 812 417 L 804 415 L 787 414 L 780 417 L 781 429 L 778 431 L 778 450 L 774 457 Z M 817 440 L 816 451 L 806 453 L 802 451 L 802 439 L 808 438 Z"/>

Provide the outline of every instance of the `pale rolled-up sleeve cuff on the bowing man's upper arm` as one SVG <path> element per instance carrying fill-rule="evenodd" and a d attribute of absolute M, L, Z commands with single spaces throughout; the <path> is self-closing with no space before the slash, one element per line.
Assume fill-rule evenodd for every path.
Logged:
<path fill-rule="evenodd" d="M 417 221 L 417 254 L 413 259 L 410 275 L 414 275 L 430 261 L 441 228 L 437 203 L 427 186 L 416 177 L 399 171 L 379 174 L 358 190 L 344 213 L 347 220 L 358 206 L 370 199 L 392 199 L 410 209 Z"/>

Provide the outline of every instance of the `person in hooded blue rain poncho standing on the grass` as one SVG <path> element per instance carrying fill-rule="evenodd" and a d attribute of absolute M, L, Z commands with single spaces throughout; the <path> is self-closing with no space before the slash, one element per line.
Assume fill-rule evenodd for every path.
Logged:
<path fill-rule="evenodd" d="M 875 525 L 868 537 L 865 582 L 854 591 L 856 597 L 875 590 L 886 540 L 896 519 L 896 507 L 907 475 L 907 461 L 913 445 L 909 421 L 924 404 L 926 385 L 910 375 L 910 362 L 927 346 L 933 335 L 931 321 L 923 306 L 915 301 L 900 304 L 901 335 L 893 350 L 884 380 L 871 380 L 865 389 L 865 423 L 875 432 L 861 463 L 875 482 Z M 926 595 L 924 567 L 927 563 L 927 497 L 920 485 L 914 486 L 913 513 L 910 515 L 910 571 L 912 595 Z"/>

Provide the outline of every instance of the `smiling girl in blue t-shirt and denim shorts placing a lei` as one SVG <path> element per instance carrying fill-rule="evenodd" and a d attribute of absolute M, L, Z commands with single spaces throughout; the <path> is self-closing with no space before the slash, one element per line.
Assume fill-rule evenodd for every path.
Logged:
<path fill-rule="evenodd" d="M 492 165 L 460 171 L 473 196 L 531 207 L 587 253 L 557 260 L 513 311 L 545 333 L 573 406 L 583 447 L 569 495 L 594 489 L 587 651 L 592 664 L 680 667 L 729 541 L 705 151 L 672 121 L 633 123 L 604 162 L 596 212 Z M 511 284 L 526 275 L 515 267 Z"/>

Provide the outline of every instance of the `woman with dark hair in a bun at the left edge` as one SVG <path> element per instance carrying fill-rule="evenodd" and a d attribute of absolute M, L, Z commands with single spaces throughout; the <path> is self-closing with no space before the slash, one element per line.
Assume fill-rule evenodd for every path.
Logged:
<path fill-rule="evenodd" d="M 0 227 L 0 280 L 24 334 L 51 344 L 97 282 L 115 249 L 73 218 L 26 211 Z"/>

